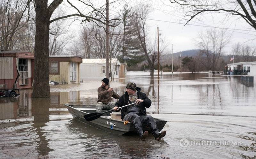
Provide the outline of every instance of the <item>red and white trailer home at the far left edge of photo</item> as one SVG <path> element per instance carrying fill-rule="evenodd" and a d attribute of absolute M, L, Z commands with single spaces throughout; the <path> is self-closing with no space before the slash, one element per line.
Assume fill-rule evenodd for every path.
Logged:
<path fill-rule="evenodd" d="M 32 88 L 34 54 L 0 51 L 0 89 Z"/>

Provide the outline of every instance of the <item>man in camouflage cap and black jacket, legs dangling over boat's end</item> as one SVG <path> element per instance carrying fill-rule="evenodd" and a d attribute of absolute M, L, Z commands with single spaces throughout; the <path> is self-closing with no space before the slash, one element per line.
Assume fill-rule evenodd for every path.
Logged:
<path fill-rule="evenodd" d="M 143 133 L 143 125 L 149 126 L 153 136 L 157 141 L 165 136 L 166 131 L 159 133 L 154 118 L 150 115 L 147 115 L 146 108 L 150 107 L 151 100 L 148 99 L 145 93 L 140 92 L 140 88 L 136 87 L 136 84 L 133 82 L 129 82 L 126 85 L 126 92 L 116 102 L 114 110 L 119 111 L 118 107 L 128 105 L 130 103 L 136 104 L 122 108 L 121 118 L 124 121 L 130 121 L 133 123 L 134 128 L 136 129 L 141 140 L 145 140 L 148 136 L 148 131 Z"/>

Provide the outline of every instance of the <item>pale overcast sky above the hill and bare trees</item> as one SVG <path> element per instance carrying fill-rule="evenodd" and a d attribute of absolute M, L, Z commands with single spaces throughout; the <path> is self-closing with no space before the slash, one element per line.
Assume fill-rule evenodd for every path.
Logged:
<path fill-rule="evenodd" d="M 109 0 L 113 2 L 113 0 Z M 73 1 L 75 2 L 75 1 Z M 100 6 L 106 3 L 106 0 L 93 0 L 95 6 Z M 171 4 L 169 0 L 117 0 L 109 6 L 110 15 L 118 15 L 123 5 L 127 3 L 129 7 L 135 7 L 136 5 L 151 4 L 150 14 L 147 19 L 148 32 L 154 38 L 157 34 L 157 26 L 159 27 L 159 33 L 161 34 L 160 40 L 164 39 L 168 43 L 168 50 L 171 51 L 171 45 L 173 44 L 173 52 L 179 52 L 189 49 L 198 49 L 195 39 L 198 37 L 199 32 L 204 32 L 206 29 L 229 28 L 227 33 L 231 35 L 230 43 L 224 49 L 225 54 L 232 54 L 232 46 L 240 42 L 242 44 L 248 44 L 255 47 L 255 30 L 247 24 L 244 19 L 236 16 L 226 17 L 225 12 L 204 14 L 198 19 L 194 19 L 184 26 L 184 14 L 186 11 L 178 10 L 174 4 Z M 62 4 L 67 7 L 68 4 Z M 72 19 L 69 20 L 71 22 Z M 179 24 L 181 23 L 181 24 Z M 72 30 L 76 30 L 76 34 L 80 33 L 81 24 L 75 22 L 70 27 Z M 159 44 L 161 47 L 161 43 Z"/>

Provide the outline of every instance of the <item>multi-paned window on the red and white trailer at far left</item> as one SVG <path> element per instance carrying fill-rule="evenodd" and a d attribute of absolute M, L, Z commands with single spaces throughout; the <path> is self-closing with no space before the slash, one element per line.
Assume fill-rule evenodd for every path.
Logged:
<path fill-rule="evenodd" d="M 21 85 L 28 85 L 28 59 L 19 59 L 19 84 Z"/>

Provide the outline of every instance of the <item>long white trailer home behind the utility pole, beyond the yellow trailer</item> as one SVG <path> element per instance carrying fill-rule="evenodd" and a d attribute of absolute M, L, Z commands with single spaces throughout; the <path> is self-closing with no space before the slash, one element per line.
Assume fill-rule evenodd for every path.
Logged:
<path fill-rule="evenodd" d="M 112 77 L 119 78 L 120 62 L 117 58 L 109 59 Z M 80 64 L 80 81 L 86 79 L 103 79 L 106 77 L 106 58 L 83 58 Z"/>

